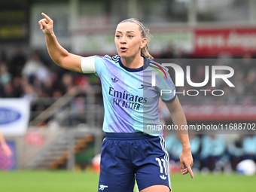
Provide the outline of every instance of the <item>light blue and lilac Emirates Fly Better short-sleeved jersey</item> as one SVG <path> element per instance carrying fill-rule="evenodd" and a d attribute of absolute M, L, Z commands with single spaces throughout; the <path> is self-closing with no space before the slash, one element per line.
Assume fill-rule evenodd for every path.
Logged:
<path fill-rule="evenodd" d="M 93 65 L 102 84 L 103 131 L 163 136 L 157 129 L 159 98 L 173 102 L 176 96 L 168 69 L 146 57 L 139 69 L 123 66 L 120 56 L 94 56 Z"/>

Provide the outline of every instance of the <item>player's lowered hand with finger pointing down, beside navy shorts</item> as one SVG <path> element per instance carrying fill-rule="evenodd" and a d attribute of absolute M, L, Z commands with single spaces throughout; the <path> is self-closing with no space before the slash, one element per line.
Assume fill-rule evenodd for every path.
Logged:
<path fill-rule="evenodd" d="M 181 160 L 181 172 L 183 175 L 187 174 L 189 172 L 191 178 L 194 178 L 194 174 L 192 172 L 192 166 L 193 166 L 193 157 L 192 154 L 189 151 L 182 151 L 181 156 L 179 157 Z M 184 169 L 184 166 L 187 168 Z"/>

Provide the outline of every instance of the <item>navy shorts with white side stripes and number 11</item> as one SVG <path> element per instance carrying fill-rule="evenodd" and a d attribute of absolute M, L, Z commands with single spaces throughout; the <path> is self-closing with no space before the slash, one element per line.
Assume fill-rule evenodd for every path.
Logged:
<path fill-rule="evenodd" d="M 166 185 L 171 190 L 169 154 L 162 136 L 143 133 L 106 133 L 102 143 L 99 190 L 133 192 Z"/>

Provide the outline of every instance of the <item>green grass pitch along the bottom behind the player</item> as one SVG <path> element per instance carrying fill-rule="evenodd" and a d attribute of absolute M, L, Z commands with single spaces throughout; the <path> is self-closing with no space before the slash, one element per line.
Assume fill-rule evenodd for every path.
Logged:
<path fill-rule="evenodd" d="M 111 176 L 111 175 L 110 175 Z M 99 175 L 95 172 L 13 171 L 0 172 L 1 192 L 97 192 Z M 172 192 L 255 192 L 256 176 L 174 174 Z M 124 191 L 123 191 L 124 192 Z"/>

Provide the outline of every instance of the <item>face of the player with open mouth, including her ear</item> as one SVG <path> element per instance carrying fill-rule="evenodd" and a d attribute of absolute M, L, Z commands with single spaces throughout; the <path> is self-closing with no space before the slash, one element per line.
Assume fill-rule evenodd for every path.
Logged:
<path fill-rule="evenodd" d="M 133 22 L 120 23 L 117 26 L 114 42 L 117 53 L 123 58 L 140 56 L 142 47 L 147 44 L 147 39 L 142 38 L 139 25 Z"/>

